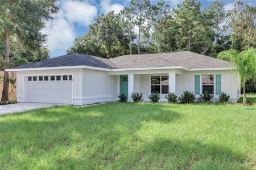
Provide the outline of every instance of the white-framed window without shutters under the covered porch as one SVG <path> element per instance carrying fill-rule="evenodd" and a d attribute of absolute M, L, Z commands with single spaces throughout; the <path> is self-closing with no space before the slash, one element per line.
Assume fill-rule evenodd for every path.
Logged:
<path fill-rule="evenodd" d="M 169 92 L 169 76 L 154 75 L 150 78 L 151 93 L 168 94 Z"/>

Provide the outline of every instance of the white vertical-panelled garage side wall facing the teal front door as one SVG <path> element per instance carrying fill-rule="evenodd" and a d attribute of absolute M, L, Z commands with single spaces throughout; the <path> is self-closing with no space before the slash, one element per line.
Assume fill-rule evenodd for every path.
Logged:
<path fill-rule="evenodd" d="M 82 70 L 82 96 L 80 104 L 117 101 L 119 94 L 117 75 L 108 75 L 106 71 Z"/>

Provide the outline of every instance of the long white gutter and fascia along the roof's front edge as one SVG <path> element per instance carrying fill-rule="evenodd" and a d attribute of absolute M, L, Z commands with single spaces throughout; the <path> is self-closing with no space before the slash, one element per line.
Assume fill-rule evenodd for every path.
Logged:
<path fill-rule="evenodd" d="M 187 67 L 184 67 L 184 66 L 169 66 L 169 67 L 147 67 L 147 68 L 131 68 L 131 69 L 104 69 L 101 67 L 92 67 L 92 66 L 61 66 L 61 67 L 39 67 L 39 68 L 26 68 L 26 69 L 6 69 L 6 71 L 39 71 L 39 70 L 63 70 L 63 69 L 89 69 L 89 70 L 98 70 L 98 71 L 140 71 L 140 70 L 168 70 L 168 69 L 182 69 L 185 71 L 233 70 L 232 67 L 188 69 Z"/>

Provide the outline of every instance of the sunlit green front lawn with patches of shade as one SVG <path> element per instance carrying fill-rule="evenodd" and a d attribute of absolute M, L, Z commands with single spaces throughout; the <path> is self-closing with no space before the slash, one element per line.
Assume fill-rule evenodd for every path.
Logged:
<path fill-rule="evenodd" d="M 0 169 L 255 169 L 255 105 L 109 103 L 0 116 Z"/>

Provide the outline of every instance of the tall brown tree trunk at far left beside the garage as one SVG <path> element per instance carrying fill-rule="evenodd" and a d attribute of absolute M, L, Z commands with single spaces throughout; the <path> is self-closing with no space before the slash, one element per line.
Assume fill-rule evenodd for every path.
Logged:
<path fill-rule="evenodd" d="M 6 36 L 6 52 L 5 52 L 5 65 L 3 69 L 8 69 L 9 56 L 10 56 L 10 31 L 5 32 Z M 3 91 L 1 101 L 9 100 L 9 73 L 5 71 L 3 75 Z"/>

